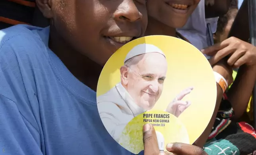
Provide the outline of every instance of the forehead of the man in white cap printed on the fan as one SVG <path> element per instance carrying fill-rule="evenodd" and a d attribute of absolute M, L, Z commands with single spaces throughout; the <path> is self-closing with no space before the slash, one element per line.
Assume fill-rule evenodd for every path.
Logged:
<path fill-rule="evenodd" d="M 167 61 L 160 53 L 146 53 L 138 56 L 138 64 L 135 68 L 140 74 L 161 74 L 165 76 L 167 72 Z M 164 75 L 163 75 L 164 74 Z"/>

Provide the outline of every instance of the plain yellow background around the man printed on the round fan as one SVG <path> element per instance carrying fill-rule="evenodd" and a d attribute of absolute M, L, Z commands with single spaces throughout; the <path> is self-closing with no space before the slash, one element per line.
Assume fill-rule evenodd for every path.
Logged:
<path fill-rule="evenodd" d="M 146 36 L 127 43 L 116 51 L 105 64 L 97 85 L 97 96 L 107 93 L 120 82 L 120 67 L 127 53 L 136 45 L 149 43 L 161 49 L 168 63 L 161 97 L 152 110 L 165 110 L 178 93 L 187 87 L 193 91 L 183 100 L 191 101 L 178 119 L 185 125 L 190 144 L 206 129 L 216 102 L 216 82 L 212 68 L 204 55 L 193 45 L 170 36 Z"/>

